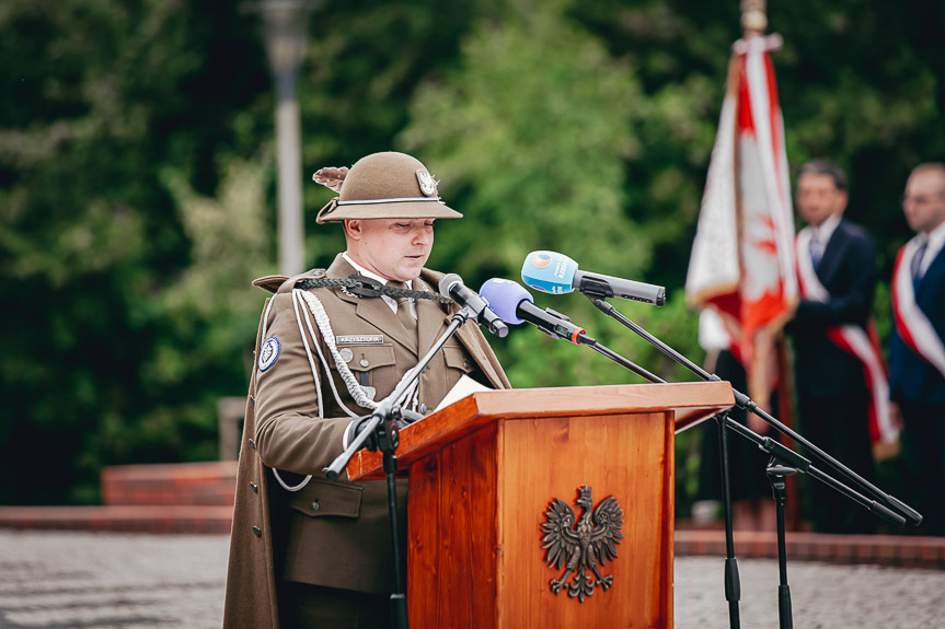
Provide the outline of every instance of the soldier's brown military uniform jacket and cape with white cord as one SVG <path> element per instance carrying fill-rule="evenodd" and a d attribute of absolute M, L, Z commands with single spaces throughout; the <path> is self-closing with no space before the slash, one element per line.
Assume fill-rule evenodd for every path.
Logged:
<path fill-rule="evenodd" d="M 278 280 L 254 282 L 275 291 L 275 295 L 267 300 L 260 323 L 246 400 L 224 627 L 278 627 L 276 582 L 283 579 L 359 592 L 392 590 L 384 481 L 330 481 L 322 473 L 342 453 L 343 435 L 352 421 L 338 399 L 358 415 L 370 409 L 355 403 L 311 313 L 314 335 L 310 333 L 302 312 L 306 302 L 292 296 L 299 280 L 346 278 L 353 272 L 355 269 L 339 255 L 326 273 L 309 271 L 283 281 L 278 289 Z M 425 269 L 413 288 L 435 291 L 440 277 Z M 348 361 L 362 386 L 376 389 L 376 401 L 394 389 L 458 310 L 456 304 L 416 300 L 418 339 L 413 339 L 380 298 L 359 299 L 336 288 L 311 289 L 311 293 L 324 306 L 343 360 Z M 267 341 L 273 337 L 278 343 Z M 318 368 L 319 387 L 306 341 Z M 267 351 L 261 361 L 263 343 Z M 331 381 L 315 343 L 329 362 Z M 459 328 L 420 375 L 418 410 L 431 411 L 463 374 L 493 388 L 510 386 L 474 323 Z M 306 475 L 312 478 L 301 490 L 289 492 L 277 484 L 273 468 L 281 470 L 287 484 L 296 485 Z M 403 481 L 399 481 L 397 498 L 399 513 L 405 514 Z M 403 523 L 400 529 L 406 531 Z"/>

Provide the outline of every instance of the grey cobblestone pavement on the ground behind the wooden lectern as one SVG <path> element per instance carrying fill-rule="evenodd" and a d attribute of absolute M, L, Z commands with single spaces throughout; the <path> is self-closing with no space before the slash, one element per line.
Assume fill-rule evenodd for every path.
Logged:
<path fill-rule="evenodd" d="M 0 629 L 215 629 L 229 539 L 0 531 Z M 726 629 L 723 559 L 676 560 L 680 629 Z M 777 562 L 738 561 L 741 627 L 777 629 Z M 945 571 L 794 562 L 798 629 L 945 627 Z"/>

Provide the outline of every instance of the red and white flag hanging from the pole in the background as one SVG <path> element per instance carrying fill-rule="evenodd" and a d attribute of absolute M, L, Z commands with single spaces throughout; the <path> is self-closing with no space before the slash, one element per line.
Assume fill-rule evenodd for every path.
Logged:
<path fill-rule="evenodd" d="M 771 35 L 733 46 L 685 278 L 687 301 L 725 322 L 761 406 L 777 382 L 775 336 L 798 299 L 784 121 L 769 55 L 780 44 Z"/>

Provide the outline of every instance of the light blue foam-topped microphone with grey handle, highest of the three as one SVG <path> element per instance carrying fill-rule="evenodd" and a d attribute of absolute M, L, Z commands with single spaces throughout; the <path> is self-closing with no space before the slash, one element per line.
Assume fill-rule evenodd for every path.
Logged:
<path fill-rule="evenodd" d="M 588 296 L 622 298 L 661 306 L 666 289 L 623 278 L 581 271 L 577 263 L 557 252 L 532 252 L 521 266 L 521 280 L 537 291 L 569 293 L 574 289 Z"/>

